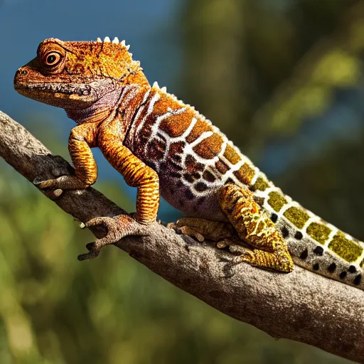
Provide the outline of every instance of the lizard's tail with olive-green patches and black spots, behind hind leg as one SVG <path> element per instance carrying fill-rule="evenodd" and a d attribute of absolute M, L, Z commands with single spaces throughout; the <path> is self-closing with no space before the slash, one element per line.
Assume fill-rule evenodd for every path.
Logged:
<path fill-rule="evenodd" d="M 302 208 L 259 172 L 251 189 L 287 240 L 294 262 L 364 290 L 364 243 Z"/>

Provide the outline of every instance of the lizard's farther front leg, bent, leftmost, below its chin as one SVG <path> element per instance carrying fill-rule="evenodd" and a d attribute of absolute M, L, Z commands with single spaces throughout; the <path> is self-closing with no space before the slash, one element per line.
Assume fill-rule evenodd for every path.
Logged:
<path fill-rule="evenodd" d="M 81 124 L 74 127 L 68 139 L 68 150 L 75 166 L 75 176 L 60 176 L 39 183 L 40 188 L 82 190 L 97 180 L 97 166 L 90 148 L 96 146 L 97 125 Z"/>

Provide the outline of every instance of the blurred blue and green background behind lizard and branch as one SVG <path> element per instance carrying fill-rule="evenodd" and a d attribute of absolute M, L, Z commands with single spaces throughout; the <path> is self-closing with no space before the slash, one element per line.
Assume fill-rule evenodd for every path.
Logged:
<path fill-rule="evenodd" d="M 0 109 L 55 154 L 70 160 L 73 122 L 18 95 L 16 69 L 44 38 L 118 36 L 285 193 L 364 239 L 363 0 L 0 0 L 0 34 Z M 133 211 L 95 156 L 96 188 Z M 77 262 L 92 240 L 0 160 L 0 363 L 349 363 L 224 316 L 116 248 Z"/>

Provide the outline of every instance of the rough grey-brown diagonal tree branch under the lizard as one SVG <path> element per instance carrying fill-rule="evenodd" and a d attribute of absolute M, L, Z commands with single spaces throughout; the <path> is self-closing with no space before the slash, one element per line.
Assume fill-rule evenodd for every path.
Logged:
<path fill-rule="evenodd" d="M 70 165 L 0 112 L 0 156 L 29 181 L 72 171 Z M 124 210 L 93 188 L 43 192 L 74 218 L 86 222 Z M 105 230 L 92 230 L 100 237 Z M 163 225 L 149 235 L 116 245 L 168 282 L 237 320 L 275 338 L 289 338 L 364 363 L 364 291 L 295 267 L 278 274 L 232 264 L 232 255 Z M 102 259 L 102 258 L 99 258 Z M 75 264 L 77 261 L 75 260 Z M 82 263 L 78 263 L 82 264 Z"/>

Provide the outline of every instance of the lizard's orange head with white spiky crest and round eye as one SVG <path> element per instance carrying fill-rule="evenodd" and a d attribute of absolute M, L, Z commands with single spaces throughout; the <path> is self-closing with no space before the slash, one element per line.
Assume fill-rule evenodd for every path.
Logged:
<path fill-rule="evenodd" d="M 37 56 L 16 71 L 16 91 L 33 100 L 64 109 L 83 109 L 120 85 L 147 84 L 129 46 L 110 41 L 63 42 L 50 38 Z"/>

